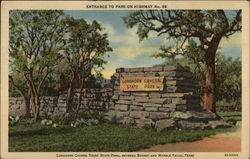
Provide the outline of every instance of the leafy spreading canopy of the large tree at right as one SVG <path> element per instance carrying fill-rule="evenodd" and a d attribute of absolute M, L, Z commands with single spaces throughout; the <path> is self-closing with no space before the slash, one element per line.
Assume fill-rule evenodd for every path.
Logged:
<path fill-rule="evenodd" d="M 128 28 L 137 27 L 140 41 L 150 32 L 166 35 L 175 46 L 160 47 L 160 56 L 184 54 L 187 40 L 194 40 L 197 48 L 206 51 L 217 34 L 229 37 L 241 30 L 240 10 L 140 10 L 123 18 Z"/>

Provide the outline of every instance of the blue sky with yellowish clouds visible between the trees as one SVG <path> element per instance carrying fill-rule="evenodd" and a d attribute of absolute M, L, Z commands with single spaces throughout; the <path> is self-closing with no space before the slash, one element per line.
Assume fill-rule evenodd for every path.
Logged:
<path fill-rule="evenodd" d="M 108 33 L 112 52 L 108 52 L 107 64 L 104 65 L 102 74 L 104 78 L 110 79 L 119 67 L 149 67 L 164 62 L 164 59 L 151 57 L 158 52 L 161 45 L 168 45 L 170 42 L 164 36 L 157 37 L 156 33 L 150 33 L 149 38 L 139 42 L 136 34 L 137 28 L 128 29 L 122 20 L 129 14 L 129 10 L 70 10 L 66 14 L 76 19 L 83 18 L 87 22 L 98 21 Z M 225 56 L 233 58 L 241 57 L 241 32 L 235 33 L 230 39 L 222 39 L 220 52 Z"/>

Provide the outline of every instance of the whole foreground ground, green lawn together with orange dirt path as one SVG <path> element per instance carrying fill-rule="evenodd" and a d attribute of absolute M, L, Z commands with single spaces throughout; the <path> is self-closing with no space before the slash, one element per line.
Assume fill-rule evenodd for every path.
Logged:
<path fill-rule="evenodd" d="M 241 120 L 239 113 L 220 115 L 231 122 Z M 64 118 L 59 121 L 67 123 Z M 9 126 L 10 152 L 237 152 L 240 141 L 240 129 L 236 128 L 156 131 L 105 122 L 54 128 L 32 119 L 20 119 Z"/>

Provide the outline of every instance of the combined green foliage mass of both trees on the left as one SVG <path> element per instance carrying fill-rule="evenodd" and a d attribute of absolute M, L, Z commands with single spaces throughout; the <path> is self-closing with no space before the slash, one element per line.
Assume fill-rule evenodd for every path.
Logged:
<path fill-rule="evenodd" d="M 96 79 L 112 48 L 97 21 L 87 23 L 61 10 L 12 10 L 9 21 L 10 95 L 31 98 L 35 119 L 42 95 L 100 87 Z"/>

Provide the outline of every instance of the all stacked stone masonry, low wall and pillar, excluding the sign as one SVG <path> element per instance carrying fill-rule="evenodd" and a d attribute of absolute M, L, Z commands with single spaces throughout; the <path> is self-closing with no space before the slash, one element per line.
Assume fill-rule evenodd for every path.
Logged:
<path fill-rule="evenodd" d="M 163 90 L 123 91 L 120 79 L 124 77 L 163 77 Z M 118 68 L 111 77 L 112 88 L 85 89 L 80 112 L 101 112 L 104 118 L 139 128 L 205 129 L 229 126 L 216 115 L 200 106 L 195 95 L 193 75 L 182 67 Z M 72 107 L 76 108 L 79 92 L 74 93 Z M 21 98 L 9 98 L 12 116 L 25 114 Z M 66 113 L 66 94 L 41 97 L 40 115 L 57 116 Z"/>

